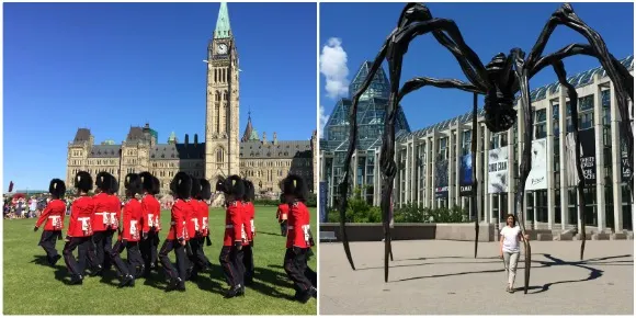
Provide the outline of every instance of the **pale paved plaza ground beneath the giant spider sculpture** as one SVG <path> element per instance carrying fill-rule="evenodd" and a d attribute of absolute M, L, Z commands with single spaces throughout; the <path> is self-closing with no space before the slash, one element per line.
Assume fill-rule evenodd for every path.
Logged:
<path fill-rule="evenodd" d="M 320 243 L 321 315 L 633 315 L 634 241 L 534 241 L 527 295 L 506 293 L 498 242 L 394 241 L 384 282 L 384 243 Z M 523 253 L 515 287 L 523 287 Z"/>

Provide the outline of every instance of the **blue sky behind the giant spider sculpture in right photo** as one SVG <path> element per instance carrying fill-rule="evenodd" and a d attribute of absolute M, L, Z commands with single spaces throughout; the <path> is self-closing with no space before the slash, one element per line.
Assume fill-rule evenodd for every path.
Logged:
<path fill-rule="evenodd" d="M 498 53 L 509 54 L 513 47 L 526 54 L 532 49 L 545 23 L 560 3 L 427 3 L 433 16 L 454 20 L 466 43 L 477 53 L 484 65 Z M 340 92 L 341 84 L 353 80 L 364 60 L 373 60 L 386 36 L 396 27 L 404 3 L 321 3 L 321 54 L 330 38 L 327 58 L 321 69 L 333 79 L 329 91 L 326 76 L 320 75 L 321 123 L 326 121 Z M 604 38 L 616 58 L 634 54 L 634 3 L 572 3 L 575 12 Z M 544 54 L 570 43 L 587 43 L 580 34 L 558 26 L 548 41 Z M 345 58 L 344 58 L 345 57 Z M 599 66 L 590 57 L 571 57 L 565 61 L 568 75 Z M 388 66 L 384 63 L 388 73 Z M 348 71 L 347 71 L 348 70 Z M 322 70 L 321 70 L 322 72 Z M 344 75 L 347 75 L 344 77 Z M 411 42 L 400 83 L 417 76 L 466 80 L 451 53 L 430 34 Z M 556 81 L 552 68 L 545 68 L 531 81 L 531 89 Z M 401 86 L 400 84 L 400 86 Z M 407 95 L 401 105 L 412 130 L 464 114 L 473 109 L 473 94 L 457 90 L 425 88 Z"/>

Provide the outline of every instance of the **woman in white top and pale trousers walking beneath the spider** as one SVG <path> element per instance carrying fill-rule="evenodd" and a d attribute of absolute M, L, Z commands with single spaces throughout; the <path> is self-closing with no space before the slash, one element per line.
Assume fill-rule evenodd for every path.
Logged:
<path fill-rule="evenodd" d="M 516 225 L 516 217 L 509 214 L 506 218 L 506 226 L 501 229 L 501 240 L 499 241 L 499 257 L 503 259 L 508 285 L 506 292 L 514 293 L 514 276 L 516 275 L 516 262 L 519 261 L 519 242 L 527 240 L 527 235 L 521 235 L 521 228 Z"/>

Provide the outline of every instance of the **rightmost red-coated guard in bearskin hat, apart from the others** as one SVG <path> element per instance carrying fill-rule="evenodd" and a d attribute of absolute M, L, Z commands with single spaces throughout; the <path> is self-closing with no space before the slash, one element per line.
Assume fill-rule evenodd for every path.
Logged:
<path fill-rule="evenodd" d="M 317 289 L 311 280 L 313 271 L 307 269 L 307 260 L 313 254 L 314 238 L 309 226 L 309 209 L 305 206 L 307 188 L 303 178 L 289 174 L 283 181 L 283 194 L 289 204 L 287 216 L 287 251 L 284 268 L 287 276 L 294 282 L 295 299 L 305 304 L 317 297 Z"/>

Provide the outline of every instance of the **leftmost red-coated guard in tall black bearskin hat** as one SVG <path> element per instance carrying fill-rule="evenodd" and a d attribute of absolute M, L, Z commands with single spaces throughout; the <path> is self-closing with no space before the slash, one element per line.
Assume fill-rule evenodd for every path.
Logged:
<path fill-rule="evenodd" d="M 61 230 L 64 229 L 66 203 L 63 201 L 63 197 L 65 192 L 66 184 L 64 184 L 64 181 L 59 179 L 50 180 L 48 193 L 50 193 L 52 200 L 42 212 L 42 215 L 39 215 L 33 228 L 34 231 L 37 231 L 44 223 L 44 231 L 42 232 L 38 246 L 46 252 L 46 261 L 52 266 L 55 266 L 57 261 L 61 259 L 55 249 L 55 243 L 57 239 L 61 239 Z"/>

